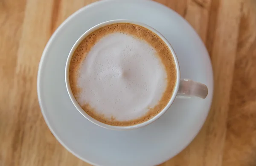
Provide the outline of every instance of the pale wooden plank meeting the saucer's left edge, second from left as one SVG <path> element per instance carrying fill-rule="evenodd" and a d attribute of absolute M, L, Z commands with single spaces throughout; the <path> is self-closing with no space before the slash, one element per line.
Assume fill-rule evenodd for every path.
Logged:
<path fill-rule="evenodd" d="M 48 132 L 44 119 L 40 113 L 36 93 L 36 75 L 41 53 L 50 37 L 49 20 L 51 1 L 44 3 L 40 0 L 27 0 L 17 62 L 15 63 L 14 86 L 10 91 L 12 97 L 10 112 L 15 112 L 12 117 L 15 145 L 8 149 L 10 157 L 15 163 L 6 163 L 7 166 L 32 166 L 42 165 L 45 155 L 51 154 L 47 143 L 41 137 Z M 56 142 L 55 140 L 52 140 Z M 49 146 L 48 146 L 49 147 Z M 48 153 L 41 153 L 48 150 Z M 35 155 L 40 154 L 41 155 Z M 13 159 L 14 158 L 14 159 Z"/>

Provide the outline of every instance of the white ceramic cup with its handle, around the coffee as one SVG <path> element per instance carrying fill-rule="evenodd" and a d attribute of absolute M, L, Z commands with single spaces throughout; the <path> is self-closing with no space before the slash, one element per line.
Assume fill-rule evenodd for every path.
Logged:
<path fill-rule="evenodd" d="M 169 47 L 170 51 L 172 52 L 172 55 L 174 56 L 174 59 L 175 59 L 175 65 L 176 65 L 176 71 L 177 71 L 175 89 L 174 89 L 172 97 L 171 97 L 170 101 L 168 102 L 168 104 L 166 105 L 166 107 L 160 113 L 158 113 L 157 115 L 155 115 L 153 118 L 149 119 L 148 121 L 145 121 L 141 124 L 132 125 L 132 126 L 111 126 L 111 125 L 104 124 L 104 123 L 102 123 L 100 121 L 97 121 L 96 119 L 92 118 L 90 115 L 85 113 L 85 111 L 81 108 L 79 103 L 76 101 L 76 98 L 74 97 L 74 95 L 72 93 L 72 90 L 70 88 L 70 82 L 69 82 L 70 60 L 73 56 L 74 51 L 79 46 L 80 42 L 85 37 L 87 37 L 87 35 L 91 34 L 93 31 L 96 31 L 97 29 L 102 28 L 106 25 L 111 25 L 111 24 L 115 24 L 115 23 L 131 23 L 131 24 L 140 25 L 140 26 L 142 26 L 144 28 L 147 28 L 148 30 L 154 32 L 155 34 L 157 34 L 157 36 L 160 37 L 166 43 L 166 45 Z M 114 130 L 137 129 L 137 128 L 146 126 L 148 124 L 151 124 L 152 122 L 154 122 L 155 120 L 160 118 L 160 116 L 162 116 L 169 109 L 169 107 L 171 107 L 171 105 L 172 105 L 172 103 L 173 103 L 173 101 L 175 100 L 176 97 L 190 98 L 192 96 L 195 96 L 195 97 L 199 97 L 199 98 L 206 98 L 207 95 L 208 95 L 208 88 L 205 84 L 201 84 L 199 82 L 194 82 L 190 79 L 180 79 L 180 66 L 179 66 L 179 62 L 178 62 L 176 53 L 173 50 L 172 45 L 167 41 L 167 39 L 165 37 L 163 37 L 162 34 L 160 34 L 157 30 L 155 30 L 154 28 L 152 28 L 148 25 L 145 25 L 143 23 L 138 23 L 136 21 L 131 21 L 131 20 L 111 20 L 111 21 L 107 21 L 107 22 L 100 23 L 100 24 L 90 28 L 88 31 L 86 31 L 84 34 L 82 34 L 82 36 L 79 37 L 79 39 L 73 45 L 73 47 L 71 48 L 70 53 L 68 55 L 66 68 L 65 68 L 65 82 L 66 82 L 67 92 L 70 96 L 71 101 L 75 105 L 76 109 L 82 115 L 84 115 L 85 118 L 87 118 L 89 121 L 93 122 L 94 124 L 96 124 L 100 127 L 104 127 L 106 129 L 114 129 Z"/>

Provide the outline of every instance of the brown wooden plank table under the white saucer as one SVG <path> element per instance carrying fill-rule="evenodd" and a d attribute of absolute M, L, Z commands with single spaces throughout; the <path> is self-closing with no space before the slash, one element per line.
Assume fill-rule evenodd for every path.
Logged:
<path fill-rule="evenodd" d="M 0 166 L 89 166 L 45 124 L 36 76 L 49 37 L 96 0 L 0 0 Z M 192 143 L 161 166 L 256 166 L 256 0 L 156 0 L 195 28 L 215 91 Z"/>

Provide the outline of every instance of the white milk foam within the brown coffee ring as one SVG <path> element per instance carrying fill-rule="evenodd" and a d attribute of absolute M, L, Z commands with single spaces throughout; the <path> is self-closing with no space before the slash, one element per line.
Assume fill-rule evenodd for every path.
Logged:
<path fill-rule="evenodd" d="M 115 32 L 102 37 L 81 62 L 77 101 L 99 115 L 140 118 L 163 96 L 167 74 L 155 49 L 142 39 Z"/>

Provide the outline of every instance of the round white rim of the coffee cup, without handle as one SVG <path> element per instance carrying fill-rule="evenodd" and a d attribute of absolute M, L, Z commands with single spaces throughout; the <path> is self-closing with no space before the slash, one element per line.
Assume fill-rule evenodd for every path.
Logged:
<path fill-rule="evenodd" d="M 169 47 L 174 59 L 175 59 L 175 67 L 176 67 L 176 84 L 175 84 L 175 88 L 174 91 L 172 93 L 172 97 L 170 98 L 168 104 L 166 105 L 166 107 L 163 108 L 163 110 L 160 111 L 160 113 L 158 113 L 157 115 L 155 115 L 153 118 L 149 119 L 148 121 L 145 121 L 143 123 L 140 124 L 135 124 L 135 125 L 131 125 L 131 126 L 112 126 L 109 124 L 105 124 L 102 123 L 94 118 L 92 118 L 90 115 L 88 115 L 79 105 L 79 103 L 76 101 L 76 98 L 74 97 L 71 87 L 70 87 L 70 81 L 69 81 L 69 66 L 70 66 L 70 60 L 72 59 L 73 53 L 76 50 L 76 48 L 79 46 L 79 44 L 81 43 L 81 41 L 87 37 L 89 34 L 91 34 L 93 31 L 95 31 L 96 29 L 102 28 L 106 25 L 111 25 L 111 24 L 115 24 L 115 23 L 131 23 L 131 24 L 135 24 L 135 25 L 140 25 L 144 28 L 147 28 L 148 30 L 152 31 L 153 33 L 157 34 L 158 37 L 160 37 L 165 43 L 166 45 Z M 67 62 L 66 62 L 66 66 L 65 66 L 65 83 L 66 83 L 66 87 L 67 87 L 67 92 L 70 96 L 70 99 L 72 101 L 72 103 L 74 104 L 74 106 L 76 107 L 76 109 L 85 117 L 87 118 L 87 120 L 91 121 L 92 123 L 100 126 L 100 127 L 104 127 L 106 129 L 112 129 L 112 130 L 130 130 L 130 129 L 137 129 L 140 127 L 144 127 L 148 124 L 151 124 L 152 122 L 154 122 L 155 120 L 157 120 L 158 118 L 160 118 L 164 113 L 166 113 L 166 111 L 169 109 L 169 107 L 172 105 L 173 101 L 175 100 L 176 96 L 177 96 L 177 92 L 179 89 L 179 85 L 180 85 L 180 66 L 179 66 L 179 62 L 177 59 L 177 55 L 174 51 L 174 49 L 172 48 L 172 45 L 168 42 L 168 40 L 162 35 L 160 34 L 160 32 L 158 32 L 156 29 L 152 28 L 149 25 L 146 25 L 144 23 L 140 23 L 137 21 L 132 21 L 132 20 L 110 20 L 110 21 L 106 21 L 103 23 L 99 23 L 98 25 L 93 26 L 92 28 L 90 28 L 89 30 L 87 30 L 86 32 L 84 32 L 84 34 L 81 35 L 81 37 L 79 37 L 79 39 L 75 42 L 75 44 L 73 45 L 73 47 L 70 50 L 70 53 L 67 57 Z"/>

